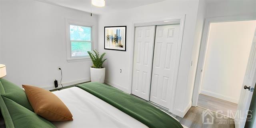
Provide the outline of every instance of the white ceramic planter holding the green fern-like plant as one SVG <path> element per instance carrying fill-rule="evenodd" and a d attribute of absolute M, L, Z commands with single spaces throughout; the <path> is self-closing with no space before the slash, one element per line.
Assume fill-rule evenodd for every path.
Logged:
<path fill-rule="evenodd" d="M 105 68 L 92 68 L 91 67 L 91 81 L 104 83 Z"/>

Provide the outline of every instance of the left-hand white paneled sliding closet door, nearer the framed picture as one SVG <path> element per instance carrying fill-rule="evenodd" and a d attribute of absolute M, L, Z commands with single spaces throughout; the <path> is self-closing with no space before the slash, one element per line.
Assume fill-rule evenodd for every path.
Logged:
<path fill-rule="evenodd" d="M 132 94 L 149 100 L 155 26 L 136 27 Z"/>

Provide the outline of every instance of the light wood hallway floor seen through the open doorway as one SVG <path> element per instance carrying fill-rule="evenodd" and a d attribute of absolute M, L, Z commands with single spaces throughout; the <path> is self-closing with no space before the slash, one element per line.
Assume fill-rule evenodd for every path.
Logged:
<path fill-rule="evenodd" d="M 204 94 L 199 94 L 197 106 L 211 110 L 213 112 L 219 111 L 218 113 L 223 114 L 224 116 L 227 116 L 229 118 L 234 117 L 233 115 L 236 114 L 237 108 L 237 104 L 235 103 L 214 98 L 211 96 L 206 96 Z"/>

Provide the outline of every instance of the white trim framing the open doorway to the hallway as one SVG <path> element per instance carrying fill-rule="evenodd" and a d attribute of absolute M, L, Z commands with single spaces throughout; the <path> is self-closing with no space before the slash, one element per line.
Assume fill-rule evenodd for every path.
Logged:
<path fill-rule="evenodd" d="M 206 18 L 204 23 L 204 30 L 202 35 L 202 40 L 200 43 L 198 63 L 196 68 L 196 77 L 194 80 L 194 90 L 192 95 L 192 106 L 197 106 L 198 95 L 201 91 L 202 86 L 202 76 L 204 72 L 204 64 L 206 60 L 206 54 L 208 50 L 208 35 L 210 30 L 210 23 L 216 22 L 232 22 L 232 21 L 246 21 L 246 20 L 256 20 L 255 16 L 227 16 L 227 17 L 214 17 Z M 201 72 L 202 70 L 202 72 Z"/>

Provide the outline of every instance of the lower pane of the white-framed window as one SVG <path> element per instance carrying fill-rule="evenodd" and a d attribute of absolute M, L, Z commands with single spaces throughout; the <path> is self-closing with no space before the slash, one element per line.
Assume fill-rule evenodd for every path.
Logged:
<path fill-rule="evenodd" d="M 91 42 L 71 42 L 71 56 L 89 56 L 87 51 L 92 51 Z"/>

